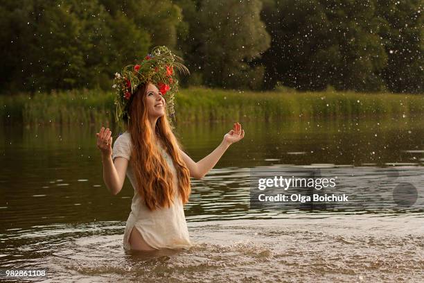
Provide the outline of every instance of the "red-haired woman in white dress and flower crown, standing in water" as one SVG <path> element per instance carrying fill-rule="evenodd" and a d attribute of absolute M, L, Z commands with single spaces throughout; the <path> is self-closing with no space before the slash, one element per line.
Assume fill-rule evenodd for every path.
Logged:
<path fill-rule="evenodd" d="M 186 155 L 168 119 L 173 105 L 167 103 L 173 96 L 165 96 L 171 89 L 174 92 L 169 94 L 175 94 L 173 67 L 182 65 L 165 47 L 153 54 L 131 71 L 124 70 L 123 76 L 116 74 L 117 113 L 127 122 L 127 130 L 116 139 L 113 150 L 109 128 L 96 133 L 107 189 L 118 194 L 125 175 L 134 188 L 123 237 L 125 250 L 190 247 L 183 209 L 191 193 L 190 177 L 200 180 L 231 144 L 245 136 L 240 123 L 234 123 L 221 144 L 202 160 L 194 162 Z"/>

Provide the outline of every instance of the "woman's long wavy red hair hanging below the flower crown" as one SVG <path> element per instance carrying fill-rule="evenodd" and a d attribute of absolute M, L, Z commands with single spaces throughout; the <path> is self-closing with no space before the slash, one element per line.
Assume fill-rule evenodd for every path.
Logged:
<path fill-rule="evenodd" d="M 179 154 L 178 148 L 182 148 L 177 141 L 166 113 L 157 119 L 154 131 L 157 137 L 166 145 L 166 151 L 170 155 L 177 171 L 178 188 L 174 191 L 173 173 L 168 163 L 161 155 L 159 148 L 154 144 L 154 137 L 148 110 L 146 108 L 146 91 L 148 83 L 140 85 L 139 89 L 131 98 L 128 108 L 130 119 L 127 121 L 127 131 L 132 139 L 132 153 L 130 162 L 137 181 L 137 191 L 150 210 L 160 207 L 170 207 L 173 196 L 179 192 L 183 204 L 188 202 L 191 194 L 190 171 Z"/>

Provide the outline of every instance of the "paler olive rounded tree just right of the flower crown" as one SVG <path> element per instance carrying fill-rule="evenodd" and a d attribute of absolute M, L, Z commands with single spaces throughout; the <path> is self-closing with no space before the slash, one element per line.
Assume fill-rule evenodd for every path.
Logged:
<path fill-rule="evenodd" d="M 270 46 L 270 35 L 260 21 L 258 0 L 205 0 L 198 13 L 199 50 L 204 83 L 220 87 L 258 88 L 263 68 L 249 62 Z"/>

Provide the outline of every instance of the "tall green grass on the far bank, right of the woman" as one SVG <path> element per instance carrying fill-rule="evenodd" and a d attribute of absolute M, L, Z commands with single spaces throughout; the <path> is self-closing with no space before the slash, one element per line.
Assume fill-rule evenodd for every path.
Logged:
<path fill-rule="evenodd" d="M 177 119 L 242 120 L 352 119 L 424 113 L 424 96 L 356 92 L 233 92 L 184 89 L 176 105 Z"/>

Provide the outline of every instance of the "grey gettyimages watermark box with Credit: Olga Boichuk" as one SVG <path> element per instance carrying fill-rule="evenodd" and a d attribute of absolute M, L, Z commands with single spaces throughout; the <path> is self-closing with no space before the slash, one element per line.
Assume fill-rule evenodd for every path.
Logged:
<path fill-rule="evenodd" d="M 422 209 L 424 170 L 375 167 L 256 167 L 251 209 Z"/>

